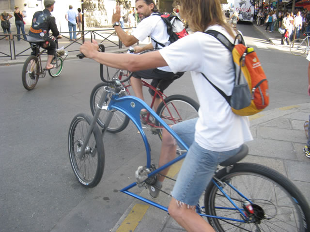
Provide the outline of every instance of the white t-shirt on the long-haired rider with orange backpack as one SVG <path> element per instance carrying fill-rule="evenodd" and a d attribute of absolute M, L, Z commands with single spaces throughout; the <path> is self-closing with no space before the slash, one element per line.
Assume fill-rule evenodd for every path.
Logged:
<path fill-rule="evenodd" d="M 233 38 L 220 26 L 211 26 Z M 228 102 L 208 79 L 228 96 L 232 94 L 234 69 L 231 52 L 211 35 L 195 32 L 159 50 L 173 73 L 191 71 L 200 103 L 195 141 L 205 149 L 228 151 L 252 140 L 247 116 L 233 113 Z"/>

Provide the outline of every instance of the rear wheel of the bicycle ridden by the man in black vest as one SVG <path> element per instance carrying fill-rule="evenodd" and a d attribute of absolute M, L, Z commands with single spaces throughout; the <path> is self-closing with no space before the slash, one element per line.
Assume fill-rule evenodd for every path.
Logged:
<path fill-rule="evenodd" d="M 36 66 L 36 70 L 33 69 L 31 71 L 31 69 L 33 68 L 31 67 L 31 60 L 34 60 L 35 62 L 34 66 Z M 30 56 L 26 59 L 24 66 L 23 66 L 22 74 L 21 74 L 21 80 L 22 80 L 23 86 L 27 90 L 33 89 L 38 83 L 39 75 L 36 73 L 38 73 L 39 69 L 40 69 L 40 64 L 36 56 Z"/>

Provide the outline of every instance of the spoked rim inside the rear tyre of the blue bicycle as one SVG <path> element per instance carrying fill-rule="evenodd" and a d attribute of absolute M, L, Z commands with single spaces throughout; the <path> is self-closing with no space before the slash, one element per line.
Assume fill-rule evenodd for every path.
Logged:
<path fill-rule="evenodd" d="M 239 169 L 241 170 L 241 169 Z M 241 223 L 231 220 L 208 218 L 210 224 L 218 232 L 244 232 L 244 231 L 272 231 L 272 232 L 306 232 L 304 228 L 305 215 L 301 207 L 292 195 L 281 183 L 275 182 L 264 174 L 248 171 L 233 171 L 221 177 L 222 181 L 228 181 L 237 187 L 250 201 L 255 204 L 254 212 L 259 215 L 259 223 Z M 283 180 L 282 180 L 283 181 Z M 284 180 L 285 181 L 285 180 Z M 292 188 L 295 188 L 292 186 Z M 233 199 L 234 203 L 242 209 L 245 199 L 241 198 L 232 188 L 226 186 L 226 193 Z M 206 191 L 205 209 L 206 213 L 219 217 L 230 217 L 243 220 L 239 211 L 213 186 L 211 191 Z M 301 204 L 301 202 L 300 202 Z M 256 206 L 257 205 L 257 206 Z M 226 209 L 225 209 L 226 208 Z M 259 228 L 259 230 L 258 230 Z"/>

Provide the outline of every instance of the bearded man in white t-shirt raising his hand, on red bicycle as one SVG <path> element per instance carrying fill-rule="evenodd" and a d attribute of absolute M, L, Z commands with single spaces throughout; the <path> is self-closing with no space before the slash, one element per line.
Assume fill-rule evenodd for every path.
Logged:
<path fill-rule="evenodd" d="M 121 19 L 121 9 L 119 6 L 116 6 L 115 13 L 112 15 L 113 28 L 122 43 L 124 43 L 126 47 L 129 47 L 139 41 L 145 40 L 148 36 L 150 36 L 152 43 L 144 47 L 134 47 L 135 53 L 140 53 L 142 51 L 157 47 L 162 48 L 169 45 L 171 42 L 169 41 L 170 35 L 167 32 L 167 26 L 165 25 L 163 19 L 161 19 L 160 14 L 158 14 L 158 9 L 154 0 L 136 0 L 136 9 L 139 14 L 140 23 L 130 35 L 124 32 L 120 26 L 119 21 Z M 180 72 L 177 73 L 177 76 L 181 77 L 183 74 L 184 72 Z M 163 92 L 174 81 L 175 76 L 176 75 L 171 71 L 171 69 L 168 66 L 165 66 L 134 72 L 130 82 L 135 95 L 144 101 L 141 78 L 152 79 L 151 85 L 155 88 L 159 87 Z M 161 79 L 165 80 L 160 82 Z M 159 82 L 160 86 L 158 86 Z M 150 89 L 150 94 L 154 96 L 154 91 L 152 89 Z M 155 110 L 157 109 L 159 103 L 160 98 L 158 97 L 154 102 Z M 147 112 L 144 109 L 141 111 L 142 115 L 145 115 L 146 113 Z"/>

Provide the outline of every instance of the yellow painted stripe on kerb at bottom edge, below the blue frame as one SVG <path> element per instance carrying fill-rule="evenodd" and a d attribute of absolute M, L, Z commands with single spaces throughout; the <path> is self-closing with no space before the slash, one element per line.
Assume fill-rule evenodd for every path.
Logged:
<path fill-rule="evenodd" d="M 116 232 L 134 232 L 149 205 L 135 204 Z"/>

